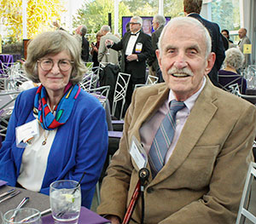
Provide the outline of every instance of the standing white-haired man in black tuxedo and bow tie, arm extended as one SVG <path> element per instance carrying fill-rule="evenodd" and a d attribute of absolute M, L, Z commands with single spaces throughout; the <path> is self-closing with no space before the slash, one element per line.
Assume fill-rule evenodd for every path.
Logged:
<path fill-rule="evenodd" d="M 142 31 L 143 19 L 133 16 L 130 20 L 130 32 L 119 43 L 107 39 L 106 44 L 111 43 L 111 49 L 121 50 L 121 72 L 131 74 L 130 83 L 126 93 L 126 105 L 131 103 L 131 95 L 135 84 L 145 83 L 146 60 L 152 52 L 151 37 Z"/>

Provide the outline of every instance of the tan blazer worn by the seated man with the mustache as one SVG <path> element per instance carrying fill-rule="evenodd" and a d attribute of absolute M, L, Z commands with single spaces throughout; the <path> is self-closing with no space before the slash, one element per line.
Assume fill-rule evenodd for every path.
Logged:
<path fill-rule="evenodd" d="M 165 83 L 138 88 L 125 116 L 124 135 L 102 183 L 101 215 L 123 219 L 138 181 L 131 137 L 168 97 Z M 145 187 L 144 223 L 235 223 L 252 161 L 256 108 L 207 78 L 171 158 Z M 149 165 L 148 165 L 148 169 Z M 140 223 L 139 198 L 130 223 Z"/>

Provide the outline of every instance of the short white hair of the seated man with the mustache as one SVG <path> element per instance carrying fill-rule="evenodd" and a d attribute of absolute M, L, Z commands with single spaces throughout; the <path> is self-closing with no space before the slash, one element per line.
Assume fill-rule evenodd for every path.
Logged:
<path fill-rule="evenodd" d="M 172 20 L 170 20 L 167 25 L 164 27 L 163 31 L 160 34 L 158 48 L 160 49 L 160 54 L 162 53 L 162 45 L 163 45 L 163 37 L 165 36 L 166 30 L 170 27 L 181 27 L 183 26 L 189 26 L 189 29 L 195 29 L 197 28 L 199 31 L 201 31 L 201 34 L 203 35 L 205 41 L 206 41 L 206 58 L 212 51 L 212 38 L 210 36 L 210 33 L 208 32 L 207 28 L 201 24 L 199 20 L 196 20 L 192 17 L 176 17 Z"/>

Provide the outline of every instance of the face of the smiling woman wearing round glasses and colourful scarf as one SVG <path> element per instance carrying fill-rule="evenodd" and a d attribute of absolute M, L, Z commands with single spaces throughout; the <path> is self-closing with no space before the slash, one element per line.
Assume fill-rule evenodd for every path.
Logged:
<path fill-rule="evenodd" d="M 47 92 L 51 91 L 55 94 L 64 92 L 73 69 L 73 64 L 70 62 L 71 56 L 68 55 L 66 51 L 61 51 L 57 55 L 45 55 L 38 60 L 38 78 Z M 47 66 L 50 68 L 52 63 L 53 66 L 50 70 L 45 69 Z M 60 67 L 63 68 L 65 72 L 62 71 Z"/>

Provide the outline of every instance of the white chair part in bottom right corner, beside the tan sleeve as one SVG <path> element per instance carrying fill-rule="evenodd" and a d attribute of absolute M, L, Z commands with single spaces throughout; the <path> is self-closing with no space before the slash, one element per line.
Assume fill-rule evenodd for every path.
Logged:
<path fill-rule="evenodd" d="M 256 177 L 256 164 L 251 163 L 247 171 L 247 179 L 243 188 L 241 202 L 238 210 L 238 215 L 236 218 L 236 224 L 241 224 L 250 220 L 250 223 L 256 223 L 256 217 L 248 210 L 249 207 L 249 198 L 251 193 L 251 187 L 253 179 Z"/>

